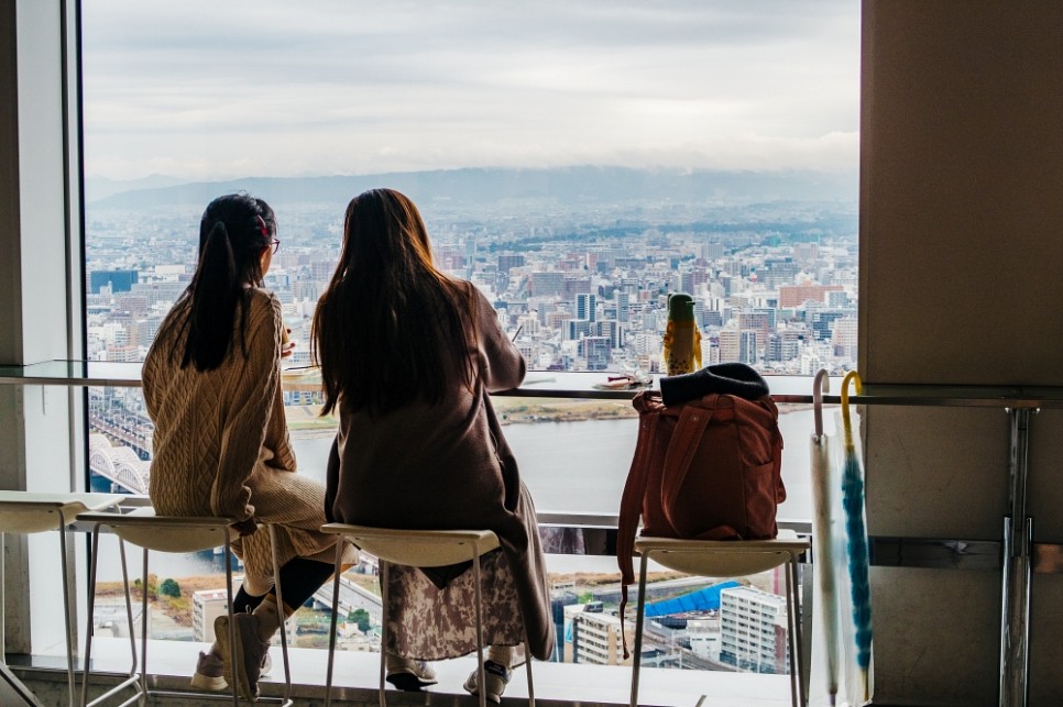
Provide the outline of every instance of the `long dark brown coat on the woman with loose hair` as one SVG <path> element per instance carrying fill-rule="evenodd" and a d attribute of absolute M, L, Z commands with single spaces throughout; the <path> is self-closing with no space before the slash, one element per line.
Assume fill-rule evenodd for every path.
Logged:
<path fill-rule="evenodd" d="M 471 287 L 471 286 L 470 286 Z M 446 400 L 384 416 L 340 405 L 326 513 L 340 522 L 409 529 L 494 531 L 512 568 L 533 655 L 546 660 L 554 623 L 535 507 L 520 480 L 487 394 L 524 379 L 524 358 L 483 295 L 467 322 L 479 333 L 469 355 L 481 372 L 472 389 L 457 371 Z M 469 597 L 472 601 L 472 597 Z"/>

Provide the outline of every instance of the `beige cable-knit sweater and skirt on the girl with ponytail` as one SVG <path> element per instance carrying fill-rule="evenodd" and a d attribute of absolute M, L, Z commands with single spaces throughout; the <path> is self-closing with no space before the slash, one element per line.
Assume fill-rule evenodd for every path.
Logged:
<path fill-rule="evenodd" d="M 178 302 L 166 322 L 184 317 Z M 239 325 L 239 317 L 238 317 Z M 251 292 L 246 355 L 239 334 L 222 365 L 206 373 L 179 366 L 171 355 L 179 328 L 164 323 L 144 362 L 147 412 L 155 423 L 149 494 L 156 512 L 229 516 L 276 526 L 283 565 L 296 556 L 331 563 L 335 537 L 320 532 L 325 487 L 296 474 L 281 391 L 281 303 L 264 289 Z M 178 352 L 180 347 L 178 347 Z M 265 529 L 238 539 L 244 587 L 265 594 L 273 586 L 273 557 Z M 347 562 L 357 560 L 353 548 Z"/>

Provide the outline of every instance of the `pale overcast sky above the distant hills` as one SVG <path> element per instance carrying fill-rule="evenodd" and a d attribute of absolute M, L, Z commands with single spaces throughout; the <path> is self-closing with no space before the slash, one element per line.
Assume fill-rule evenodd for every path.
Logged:
<path fill-rule="evenodd" d="M 856 168 L 856 0 L 83 8 L 92 176 Z"/>

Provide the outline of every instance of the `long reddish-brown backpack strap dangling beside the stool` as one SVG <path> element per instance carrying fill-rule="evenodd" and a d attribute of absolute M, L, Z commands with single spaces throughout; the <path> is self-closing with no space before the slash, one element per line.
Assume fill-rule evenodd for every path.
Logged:
<path fill-rule="evenodd" d="M 660 410 L 649 409 L 644 405 L 644 393 L 635 396 L 634 406 L 638 410 L 638 440 L 635 443 L 635 455 L 632 467 L 627 472 L 624 484 L 624 495 L 621 497 L 620 522 L 616 530 L 616 564 L 621 571 L 621 621 L 627 608 L 627 587 L 635 582 L 635 532 L 638 530 L 638 519 L 643 512 L 643 498 L 646 496 L 646 483 L 649 478 L 648 460 L 653 452 L 654 440 L 657 438 L 657 423 Z M 624 643 L 624 658 L 628 658 L 627 634 L 621 631 Z"/>

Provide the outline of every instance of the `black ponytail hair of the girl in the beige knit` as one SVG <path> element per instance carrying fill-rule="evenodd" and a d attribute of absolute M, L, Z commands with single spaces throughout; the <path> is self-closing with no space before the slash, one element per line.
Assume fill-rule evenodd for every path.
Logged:
<path fill-rule="evenodd" d="M 239 316 L 240 347 L 246 355 L 245 327 L 251 287 L 262 285 L 262 248 L 276 234 L 273 209 L 246 194 L 211 201 L 199 222 L 199 264 L 182 300 L 188 301 L 180 322 L 184 336 L 174 341 L 180 367 L 213 371 L 232 350 Z M 160 332 L 162 335 L 162 332 Z"/>

